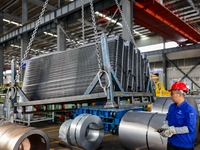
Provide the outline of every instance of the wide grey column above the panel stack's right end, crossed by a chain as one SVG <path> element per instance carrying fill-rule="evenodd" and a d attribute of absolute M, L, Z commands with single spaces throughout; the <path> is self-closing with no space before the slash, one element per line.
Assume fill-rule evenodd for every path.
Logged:
<path fill-rule="evenodd" d="M 126 19 L 126 22 L 128 24 L 128 27 L 131 30 L 131 33 L 133 32 L 133 0 L 123 0 L 121 1 L 122 4 L 122 12 L 124 14 L 124 17 Z M 126 25 L 124 21 L 122 21 L 123 28 L 122 28 L 122 37 L 124 40 L 131 41 L 131 37 L 128 33 L 128 30 L 126 28 Z"/>

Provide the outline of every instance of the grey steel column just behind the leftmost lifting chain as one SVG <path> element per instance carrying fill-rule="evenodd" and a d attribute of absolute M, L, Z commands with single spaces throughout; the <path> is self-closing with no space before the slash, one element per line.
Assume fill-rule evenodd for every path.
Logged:
<path fill-rule="evenodd" d="M 28 21 L 28 2 L 27 0 L 22 0 L 22 24 Z M 21 60 L 24 58 L 24 53 L 28 46 L 28 34 L 24 33 L 21 37 Z M 21 62 L 23 63 L 23 62 Z M 24 69 L 22 68 L 20 81 L 24 78 Z"/>

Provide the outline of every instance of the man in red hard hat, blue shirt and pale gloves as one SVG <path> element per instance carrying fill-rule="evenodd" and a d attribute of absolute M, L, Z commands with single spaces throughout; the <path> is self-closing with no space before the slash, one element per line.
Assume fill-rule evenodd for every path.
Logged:
<path fill-rule="evenodd" d="M 185 100 L 188 88 L 183 82 L 175 82 L 171 89 L 169 107 L 160 135 L 168 138 L 167 150 L 194 150 L 197 110 Z"/>

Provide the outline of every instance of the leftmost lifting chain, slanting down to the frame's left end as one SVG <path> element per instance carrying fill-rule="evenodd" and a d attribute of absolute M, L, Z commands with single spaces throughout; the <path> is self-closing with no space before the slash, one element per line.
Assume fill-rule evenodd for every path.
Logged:
<path fill-rule="evenodd" d="M 31 36 L 31 39 L 30 39 L 29 43 L 28 43 L 27 49 L 26 49 L 26 51 L 25 51 L 25 53 L 24 53 L 24 58 L 22 58 L 22 60 L 21 60 L 21 65 L 19 66 L 19 70 L 18 70 L 18 72 L 17 72 L 17 74 L 16 74 L 15 82 L 17 82 L 17 79 L 19 79 L 19 76 L 20 76 L 21 70 L 22 70 L 22 66 L 23 66 L 23 64 L 25 63 L 26 58 L 27 58 L 27 56 L 28 56 L 28 53 L 29 53 L 29 51 L 30 51 L 30 49 L 31 49 L 31 45 L 33 44 L 33 40 L 34 40 L 34 38 L 35 38 L 35 34 L 37 33 L 38 27 L 39 27 L 39 25 L 40 25 L 42 16 L 44 15 L 44 12 L 45 12 L 45 9 L 46 9 L 46 7 L 47 7 L 47 5 L 48 5 L 48 2 L 49 2 L 49 0 L 46 0 L 45 3 L 44 3 L 44 5 L 43 5 L 42 12 L 40 13 L 40 16 L 39 16 L 39 18 L 38 18 L 38 20 L 37 20 L 37 23 L 36 23 L 36 25 L 35 25 L 35 29 L 34 29 L 34 31 L 33 31 L 33 34 L 32 34 L 32 36 Z"/>

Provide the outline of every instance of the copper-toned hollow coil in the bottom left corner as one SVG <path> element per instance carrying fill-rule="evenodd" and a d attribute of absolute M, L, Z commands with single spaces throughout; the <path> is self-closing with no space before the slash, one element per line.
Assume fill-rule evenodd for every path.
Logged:
<path fill-rule="evenodd" d="M 41 130 L 11 123 L 0 124 L 1 150 L 49 150 L 49 138 Z"/>

